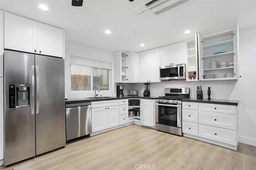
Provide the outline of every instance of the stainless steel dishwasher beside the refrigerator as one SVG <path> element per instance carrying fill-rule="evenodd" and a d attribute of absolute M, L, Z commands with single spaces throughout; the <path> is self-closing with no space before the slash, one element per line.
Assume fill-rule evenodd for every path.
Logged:
<path fill-rule="evenodd" d="M 66 104 L 66 140 L 71 140 L 91 133 L 91 102 Z"/>

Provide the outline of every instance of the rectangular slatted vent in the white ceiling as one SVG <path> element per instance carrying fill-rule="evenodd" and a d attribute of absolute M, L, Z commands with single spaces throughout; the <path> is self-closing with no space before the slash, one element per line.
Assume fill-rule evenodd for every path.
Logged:
<path fill-rule="evenodd" d="M 152 0 L 146 4 L 142 4 L 134 9 L 138 14 L 142 14 L 147 10 L 150 10 L 155 15 L 162 14 L 165 11 L 168 11 L 176 6 L 179 6 L 189 0 Z"/>

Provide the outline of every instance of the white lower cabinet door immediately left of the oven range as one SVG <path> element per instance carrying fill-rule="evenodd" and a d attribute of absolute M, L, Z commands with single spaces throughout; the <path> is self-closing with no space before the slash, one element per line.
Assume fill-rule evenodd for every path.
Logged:
<path fill-rule="evenodd" d="M 154 100 L 140 100 L 140 123 L 144 126 L 154 127 Z"/>

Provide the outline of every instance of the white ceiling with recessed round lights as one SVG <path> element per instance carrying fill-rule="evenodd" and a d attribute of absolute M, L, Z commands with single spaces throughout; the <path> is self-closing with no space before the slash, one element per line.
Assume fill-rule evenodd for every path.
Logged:
<path fill-rule="evenodd" d="M 150 0 L 0 0 L 0 9 L 65 30 L 66 40 L 110 51 L 145 51 L 201 36 L 256 26 L 256 0 L 190 0 L 158 16 L 134 8 Z M 48 11 L 38 8 L 46 4 Z M 111 34 L 105 34 L 105 30 Z M 190 34 L 184 34 L 191 30 Z M 127 40 L 130 39 L 130 40 Z M 144 47 L 140 44 L 144 43 Z"/>

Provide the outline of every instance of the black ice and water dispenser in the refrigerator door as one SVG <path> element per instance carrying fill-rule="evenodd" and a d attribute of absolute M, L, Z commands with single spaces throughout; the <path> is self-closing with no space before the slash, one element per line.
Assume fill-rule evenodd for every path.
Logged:
<path fill-rule="evenodd" d="M 9 108 L 30 107 L 30 84 L 9 84 Z"/>

